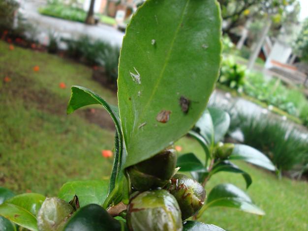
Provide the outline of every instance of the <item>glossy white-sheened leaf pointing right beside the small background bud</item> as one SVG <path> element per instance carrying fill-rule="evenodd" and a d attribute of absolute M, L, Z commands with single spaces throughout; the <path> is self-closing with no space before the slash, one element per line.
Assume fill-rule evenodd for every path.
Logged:
<path fill-rule="evenodd" d="M 270 171 L 276 171 L 275 166 L 262 152 L 245 144 L 235 144 L 230 160 L 244 160 Z"/>

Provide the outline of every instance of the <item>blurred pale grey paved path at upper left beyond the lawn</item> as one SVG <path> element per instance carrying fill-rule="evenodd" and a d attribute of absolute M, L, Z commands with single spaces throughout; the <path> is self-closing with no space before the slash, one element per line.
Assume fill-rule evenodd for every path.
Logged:
<path fill-rule="evenodd" d="M 35 28 L 35 37 L 42 44 L 48 44 L 49 33 L 58 37 L 76 39 L 82 35 L 88 35 L 92 39 L 109 42 L 114 46 L 122 46 L 124 33 L 107 25 L 99 24 L 89 26 L 79 22 L 73 22 L 38 13 L 38 7 L 46 4 L 44 0 L 24 0 L 21 2 L 21 11 L 24 17 Z M 60 44 L 60 46 L 65 46 Z"/>

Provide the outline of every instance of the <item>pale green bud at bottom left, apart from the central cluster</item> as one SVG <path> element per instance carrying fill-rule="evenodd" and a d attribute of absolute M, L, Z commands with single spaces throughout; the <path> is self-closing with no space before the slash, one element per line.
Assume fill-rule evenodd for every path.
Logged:
<path fill-rule="evenodd" d="M 62 231 L 74 208 L 59 198 L 46 198 L 37 213 L 39 231 Z"/>

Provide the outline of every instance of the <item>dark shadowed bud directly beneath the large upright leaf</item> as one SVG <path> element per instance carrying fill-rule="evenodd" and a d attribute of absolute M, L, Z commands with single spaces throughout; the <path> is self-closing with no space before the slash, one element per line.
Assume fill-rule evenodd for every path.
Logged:
<path fill-rule="evenodd" d="M 127 173 L 135 190 L 146 191 L 165 186 L 176 167 L 174 149 L 164 150 L 154 157 L 129 167 Z"/>

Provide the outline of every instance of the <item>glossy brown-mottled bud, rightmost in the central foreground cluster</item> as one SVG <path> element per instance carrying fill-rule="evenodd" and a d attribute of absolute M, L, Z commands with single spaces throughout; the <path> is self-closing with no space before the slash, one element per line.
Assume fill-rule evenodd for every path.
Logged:
<path fill-rule="evenodd" d="M 177 199 L 183 220 L 194 215 L 206 198 L 203 186 L 184 174 L 175 174 L 166 189 Z"/>

